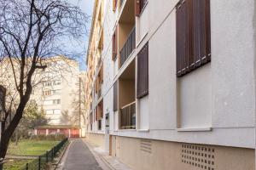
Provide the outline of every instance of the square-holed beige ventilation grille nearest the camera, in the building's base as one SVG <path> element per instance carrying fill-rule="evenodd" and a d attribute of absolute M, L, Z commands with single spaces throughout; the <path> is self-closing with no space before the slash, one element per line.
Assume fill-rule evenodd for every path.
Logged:
<path fill-rule="evenodd" d="M 193 167 L 206 170 L 216 170 L 215 149 L 195 144 L 182 144 L 181 160 Z"/>

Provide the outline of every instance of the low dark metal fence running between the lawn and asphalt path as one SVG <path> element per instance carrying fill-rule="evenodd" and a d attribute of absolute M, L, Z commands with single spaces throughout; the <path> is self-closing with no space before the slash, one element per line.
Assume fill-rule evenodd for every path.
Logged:
<path fill-rule="evenodd" d="M 67 144 L 67 138 L 63 139 L 59 144 L 55 145 L 51 150 L 46 151 L 43 155 L 38 156 L 38 159 L 35 159 L 29 163 L 26 163 L 25 167 L 22 167 L 20 170 L 44 170 L 48 169 L 47 166 L 49 162 L 54 161 L 55 156 L 58 155 L 59 151 Z"/>

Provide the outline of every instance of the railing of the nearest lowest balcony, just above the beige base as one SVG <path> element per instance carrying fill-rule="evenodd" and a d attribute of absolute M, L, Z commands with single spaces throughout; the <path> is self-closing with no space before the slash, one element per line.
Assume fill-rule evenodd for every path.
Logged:
<path fill-rule="evenodd" d="M 136 128 L 136 103 L 133 102 L 125 105 L 120 109 L 120 128 L 135 129 Z"/>

